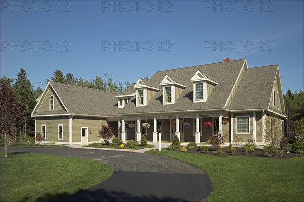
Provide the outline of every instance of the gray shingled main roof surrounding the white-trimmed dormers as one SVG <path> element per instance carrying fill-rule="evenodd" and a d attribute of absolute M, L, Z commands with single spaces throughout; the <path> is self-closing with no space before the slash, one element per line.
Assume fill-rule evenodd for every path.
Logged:
<path fill-rule="evenodd" d="M 224 89 L 224 84 L 234 83 L 237 80 L 244 62 L 245 59 L 240 59 L 229 62 L 220 62 L 156 72 L 149 79 L 150 81 L 160 83 L 166 74 L 185 80 L 188 87 L 182 91 L 181 95 L 175 101 L 175 104 L 163 105 L 162 91 L 159 91 L 149 101 L 147 106 L 144 107 L 136 107 L 136 97 L 133 96 L 130 100 L 131 102 L 126 104 L 125 107 L 120 108 L 119 114 L 223 108 L 230 94 L 229 90 Z M 208 75 L 213 75 L 216 80 L 220 81 L 220 83 L 215 86 L 213 92 L 209 95 L 206 102 L 193 103 L 193 85 L 190 79 L 198 69 L 203 72 L 208 72 Z"/>

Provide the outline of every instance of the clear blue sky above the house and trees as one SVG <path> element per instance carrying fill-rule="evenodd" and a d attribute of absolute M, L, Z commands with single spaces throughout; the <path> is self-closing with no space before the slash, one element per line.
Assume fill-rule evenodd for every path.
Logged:
<path fill-rule="evenodd" d="M 304 89 L 303 1 L 1 1 L 0 75 L 57 69 L 135 82 L 156 71 L 247 58 Z M 153 46 L 153 47 L 152 47 Z M 50 48 L 51 47 L 51 48 Z"/>

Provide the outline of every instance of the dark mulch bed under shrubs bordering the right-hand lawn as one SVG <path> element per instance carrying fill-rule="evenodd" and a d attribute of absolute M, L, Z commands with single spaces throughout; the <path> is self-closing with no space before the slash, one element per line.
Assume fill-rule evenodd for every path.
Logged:
<path fill-rule="evenodd" d="M 231 154 L 229 148 L 220 148 L 222 150 L 222 156 L 223 157 L 233 157 L 233 156 L 239 156 L 239 157 L 258 157 L 258 158 L 278 158 L 278 159 L 289 159 L 289 158 L 294 158 L 294 157 L 301 157 L 304 156 L 304 154 L 297 154 L 297 153 L 290 153 L 288 154 L 287 151 L 290 150 L 284 150 L 284 155 L 281 156 L 279 153 L 274 155 L 273 157 L 268 157 L 263 153 L 262 149 L 255 149 L 252 152 L 249 152 L 245 154 L 244 148 L 238 148 L 235 150 L 233 154 Z M 180 151 L 178 151 L 180 152 Z M 194 148 L 192 150 L 187 150 L 187 153 L 197 153 L 197 154 L 207 154 L 207 155 L 216 155 L 216 150 L 213 148 L 209 148 L 207 153 L 202 153 L 201 151 L 197 151 L 197 148 Z M 291 152 L 291 151 L 290 151 Z"/>

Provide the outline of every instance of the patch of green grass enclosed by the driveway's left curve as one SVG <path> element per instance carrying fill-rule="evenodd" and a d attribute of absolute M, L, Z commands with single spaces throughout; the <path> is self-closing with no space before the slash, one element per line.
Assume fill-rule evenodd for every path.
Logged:
<path fill-rule="evenodd" d="M 1 154 L 0 201 L 51 201 L 109 178 L 108 165 L 79 157 Z"/>

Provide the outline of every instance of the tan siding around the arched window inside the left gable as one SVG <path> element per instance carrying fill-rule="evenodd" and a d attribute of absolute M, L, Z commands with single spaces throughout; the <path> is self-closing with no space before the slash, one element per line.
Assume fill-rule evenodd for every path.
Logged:
<path fill-rule="evenodd" d="M 56 96 L 54 90 L 51 87 L 48 87 L 46 96 L 42 99 L 42 103 L 37 112 L 46 112 L 46 111 L 62 111 L 64 110 L 63 105 L 61 104 L 59 98 Z M 50 97 L 54 97 L 54 110 L 50 110 Z"/>

